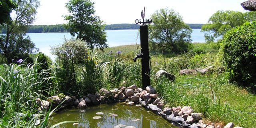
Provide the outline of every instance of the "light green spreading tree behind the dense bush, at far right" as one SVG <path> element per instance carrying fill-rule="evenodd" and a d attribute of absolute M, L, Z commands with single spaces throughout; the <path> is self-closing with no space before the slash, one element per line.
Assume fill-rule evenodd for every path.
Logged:
<path fill-rule="evenodd" d="M 213 42 L 214 38 L 222 37 L 228 30 L 244 24 L 245 18 L 242 12 L 231 10 L 218 10 L 202 26 L 206 42 Z"/>

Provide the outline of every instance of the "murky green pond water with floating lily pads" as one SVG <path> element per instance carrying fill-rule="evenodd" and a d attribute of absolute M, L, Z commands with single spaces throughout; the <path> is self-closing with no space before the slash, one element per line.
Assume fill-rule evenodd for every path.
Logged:
<path fill-rule="evenodd" d="M 103 114 L 98 115 L 97 112 Z M 110 116 L 111 114 L 117 114 L 117 116 Z M 101 116 L 102 118 L 93 119 L 94 116 Z M 64 109 L 55 112 L 51 117 L 51 125 L 62 121 L 88 122 L 75 125 L 66 123 L 57 128 L 114 128 L 118 124 L 136 128 L 178 128 L 142 106 L 128 106 L 125 103 L 101 104 L 90 106 L 84 110 L 77 108 Z"/>

